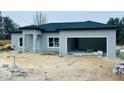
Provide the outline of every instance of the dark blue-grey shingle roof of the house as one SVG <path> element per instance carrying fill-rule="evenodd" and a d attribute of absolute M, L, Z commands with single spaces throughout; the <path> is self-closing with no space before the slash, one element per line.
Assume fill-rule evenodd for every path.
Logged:
<path fill-rule="evenodd" d="M 107 24 L 85 21 L 85 22 L 63 22 L 63 23 L 47 23 L 43 25 L 30 25 L 21 27 L 20 29 L 38 29 L 42 31 L 59 31 L 59 30 L 75 30 L 75 29 L 116 29 L 115 26 Z"/>

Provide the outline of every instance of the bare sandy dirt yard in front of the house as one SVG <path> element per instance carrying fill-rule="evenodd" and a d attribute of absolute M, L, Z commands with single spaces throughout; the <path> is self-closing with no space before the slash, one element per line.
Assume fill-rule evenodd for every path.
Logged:
<path fill-rule="evenodd" d="M 0 80 L 124 80 L 124 76 L 112 73 L 119 59 L 105 59 L 95 56 L 59 57 L 25 53 L 16 55 L 16 65 L 23 73 L 14 75 L 3 71 L 3 64 L 12 65 L 13 53 L 0 53 Z"/>

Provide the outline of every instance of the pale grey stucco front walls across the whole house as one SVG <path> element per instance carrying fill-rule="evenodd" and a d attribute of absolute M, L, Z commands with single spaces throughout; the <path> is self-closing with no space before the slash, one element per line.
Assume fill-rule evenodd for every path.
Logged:
<path fill-rule="evenodd" d="M 107 38 L 107 56 L 115 57 L 116 56 L 116 30 L 70 30 L 70 31 L 59 31 L 59 32 L 42 32 L 37 30 L 25 30 L 23 33 L 12 33 L 11 34 L 11 47 L 15 46 L 15 49 L 18 50 L 18 38 L 25 34 L 41 35 L 40 39 L 40 51 L 56 51 L 61 55 L 67 55 L 67 38 L 81 37 L 81 38 Z M 59 48 L 49 48 L 48 47 L 48 38 L 49 37 L 59 37 Z M 24 40 L 24 38 L 23 38 Z M 36 40 L 34 38 L 33 40 Z M 30 42 L 28 42 L 29 45 Z M 25 44 L 23 44 L 25 45 Z M 33 47 L 36 47 L 36 42 L 33 44 Z M 29 48 L 30 49 L 30 48 Z"/>

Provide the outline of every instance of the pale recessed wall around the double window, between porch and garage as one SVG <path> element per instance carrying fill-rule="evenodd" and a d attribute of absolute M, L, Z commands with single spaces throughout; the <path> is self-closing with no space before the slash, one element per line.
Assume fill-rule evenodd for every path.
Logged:
<path fill-rule="evenodd" d="M 41 36 L 41 46 L 40 49 L 42 52 L 45 51 L 53 51 L 53 52 L 59 52 L 59 48 L 49 48 L 48 47 L 48 38 L 49 37 L 59 37 L 59 32 L 43 32 Z"/>

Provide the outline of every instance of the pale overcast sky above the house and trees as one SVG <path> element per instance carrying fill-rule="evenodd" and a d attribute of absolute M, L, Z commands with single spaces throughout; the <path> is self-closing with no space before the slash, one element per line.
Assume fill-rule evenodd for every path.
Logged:
<path fill-rule="evenodd" d="M 124 11 L 120 12 L 58 12 L 47 11 L 44 12 L 47 15 L 48 22 L 82 22 L 82 21 L 96 21 L 106 23 L 110 17 L 124 17 Z M 14 22 L 20 26 L 26 26 L 33 24 L 33 16 L 35 11 L 3 11 L 3 16 L 9 16 Z"/>

